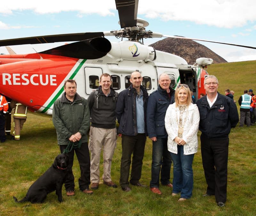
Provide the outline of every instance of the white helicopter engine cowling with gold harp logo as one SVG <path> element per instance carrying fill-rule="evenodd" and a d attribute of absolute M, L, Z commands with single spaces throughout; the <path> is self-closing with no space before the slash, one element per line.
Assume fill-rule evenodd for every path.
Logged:
<path fill-rule="evenodd" d="M 133 60 L 148 62 L 156 59 L 156 51 L 153 47 L 148 47 L 134 41 L 112 43 L 109 54 L 115 57 L 117 61 Z"/>

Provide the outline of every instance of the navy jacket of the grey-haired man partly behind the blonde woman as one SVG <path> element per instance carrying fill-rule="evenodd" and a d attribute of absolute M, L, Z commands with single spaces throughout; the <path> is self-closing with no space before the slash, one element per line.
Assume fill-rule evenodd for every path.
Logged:
<path fill-rule="evenodd" d="M 164 117 L 169 105 L 173 104 L 175 101 L 175 90 L 173 90 L 171 87 L 169 87 L 169 89 L 171 99 L 169 98 L 166 90 L 161 89 L 160 85 L 158 85 L 157 90 L 152 92 L 148 97 L 147 128 L 149 138 L 168 137 L 164 126 Z"/>

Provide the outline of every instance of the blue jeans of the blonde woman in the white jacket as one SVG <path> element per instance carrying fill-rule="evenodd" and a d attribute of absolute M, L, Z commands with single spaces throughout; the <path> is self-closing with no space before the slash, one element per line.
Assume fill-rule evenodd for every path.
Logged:
<path fill-rule="evenodd" d="M 171 152 L 173 161 L 172 193 L 180 193 L 180 198 L 190 198 L 193 189 L 192 163 L 194 155 L 184 155 L 183 146 L 177 145 L 178 154 Z"/>

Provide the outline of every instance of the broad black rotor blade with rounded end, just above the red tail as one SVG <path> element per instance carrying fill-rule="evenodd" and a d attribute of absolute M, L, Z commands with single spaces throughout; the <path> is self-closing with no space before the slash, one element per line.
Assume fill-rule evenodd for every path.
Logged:
<path fill-rule="evenodd" d="M 98 59 L 105 56 L 110 49 L 111 43 L 109 40 L 98 37 L 55 47 L 40 52 L 40 54 L 60 55 L 78 59 Z"/>

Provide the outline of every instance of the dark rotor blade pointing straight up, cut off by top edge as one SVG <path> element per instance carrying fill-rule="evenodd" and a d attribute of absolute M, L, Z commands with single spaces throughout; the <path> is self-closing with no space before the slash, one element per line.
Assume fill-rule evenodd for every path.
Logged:
<path fill-rule="evenodd" d="M 139 0 L 116 0 L 121 28 L 137 25 Z"/>

